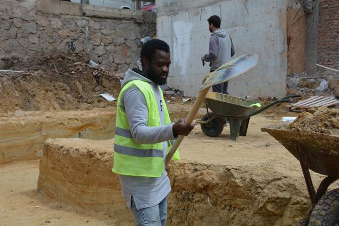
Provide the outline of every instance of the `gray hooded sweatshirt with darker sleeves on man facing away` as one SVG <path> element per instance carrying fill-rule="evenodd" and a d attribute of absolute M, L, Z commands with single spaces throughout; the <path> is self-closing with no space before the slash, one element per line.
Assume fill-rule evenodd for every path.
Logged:
<path fill-rule="evenodd" d="M 235 51 L 232 40 L 226 31 L 218 29 L 211 34 L 209 52 L 203 58 L 205 61 L 211 62 L 211 70 L 216 70 L 231 59 Z"/>

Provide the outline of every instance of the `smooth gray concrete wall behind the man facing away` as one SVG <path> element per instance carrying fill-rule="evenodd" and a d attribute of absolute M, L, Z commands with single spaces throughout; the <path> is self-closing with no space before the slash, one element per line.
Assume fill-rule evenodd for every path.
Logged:
<path fill-rule="evenodd" d="M 293 2 L 293 1 L 291 1 Z M 258 65 L 229 82 L 231 95 L 251 98 L 285 94 L 287 75 L 286 0 L 158 0 L 157 35 L 169 43 L 172 66 L 169 86 L 196 96 L 209 66 L 207 19 L 222 18 L 232 37 L 235 56 L 255 53 Z M 292 5 L 291 7 L 295 7 Z"/>

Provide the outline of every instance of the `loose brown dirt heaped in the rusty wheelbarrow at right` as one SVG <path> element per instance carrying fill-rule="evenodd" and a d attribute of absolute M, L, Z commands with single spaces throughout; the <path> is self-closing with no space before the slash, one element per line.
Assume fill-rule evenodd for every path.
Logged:
<path fill-rule="evenodd" d="M 313 114 L 301 113 L 288 129 L 339 135 L 339 109 L 320 108 Z"/>

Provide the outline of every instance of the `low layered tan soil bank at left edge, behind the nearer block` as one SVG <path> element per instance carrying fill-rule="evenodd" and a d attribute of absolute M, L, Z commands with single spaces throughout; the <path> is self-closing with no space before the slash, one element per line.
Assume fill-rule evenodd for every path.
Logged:
<path fill-rule="evenodd" d="M 115 112 L 16 112 L 0 117 L 0 164 L 38 159 L 49 138 L 112 139 Z"/>

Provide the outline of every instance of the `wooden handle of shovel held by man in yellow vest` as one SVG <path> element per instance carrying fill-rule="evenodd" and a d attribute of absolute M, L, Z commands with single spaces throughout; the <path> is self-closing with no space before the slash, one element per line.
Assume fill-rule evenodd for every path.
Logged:
<path fill-rule="evenodd" d="M 201 104 L 204 102 L 204 99 L 205 99 L 205 97 L 206 97 L 206 95 L 207 95 L 209 89 L 210 89 L 210 87 L 208 87 L 208 88 L 206 88 L 206 89 L 204 89 L 204 90 L 201 90 L 201 91 L 198 93 L 198 97 L 197 97 L 197 99 L 195 99 L 194 104 L 193 104 L 193 107 L 192 107 L 191 111 L 189 112 L 189 114 L 188 114 L 188 116 L 187 116 L 187 118 L 186 118 L 186 120 L 185 120 L 185 123 L 186 123 L 187 125 L 190 125 L 190 124 L 193 122 L 194 117 L 195 117 L 195 115 L 198 113 Z M 175 140 L 174 144 L 172 145 L 172 148 L 171 148 L 170 151 L 169 151 L 169 154 L 168 154 L 167 157 L 166 157 L 166 161 L 165 161 L 165 165 L 166 165 L 166 166 L 169 164 L 170 159 L 171 159 L 172 156 L 174 155 L 176 149 L 178 149 L 178 147 L 179 147 L 179 145 L 180 145 L 180 143 L 181 143 L 181 141 L 182 141 L 183 138 L 184 138 L 184 136 L 181 136 L 181 135 L 180 135 L 180 136 Z"/>

